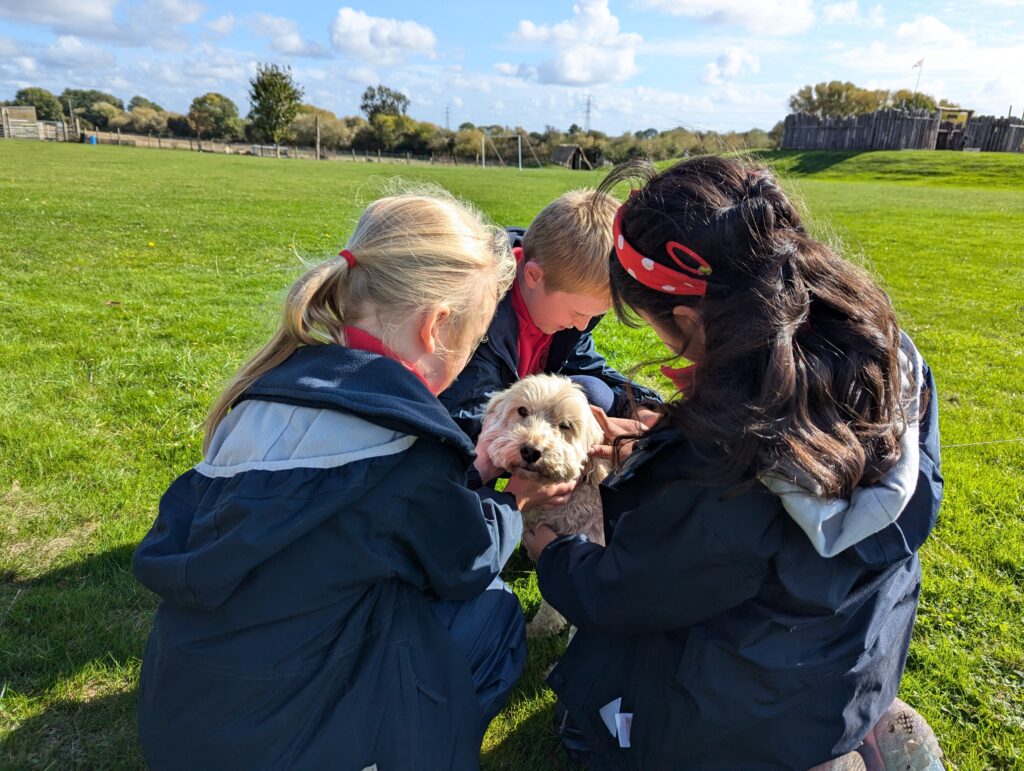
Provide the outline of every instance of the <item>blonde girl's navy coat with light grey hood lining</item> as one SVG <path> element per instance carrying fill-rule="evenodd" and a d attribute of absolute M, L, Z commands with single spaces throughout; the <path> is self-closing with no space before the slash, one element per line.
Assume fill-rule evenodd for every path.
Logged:
<path fill-rule="evenodd" d="M 179 477 L 135 552 L 162 597 L 142 661 L 154 769 L 475 768 L 485 728 L 431 598 L 479 595 L 511 496 L 401 365 L 301 348 Z"/>

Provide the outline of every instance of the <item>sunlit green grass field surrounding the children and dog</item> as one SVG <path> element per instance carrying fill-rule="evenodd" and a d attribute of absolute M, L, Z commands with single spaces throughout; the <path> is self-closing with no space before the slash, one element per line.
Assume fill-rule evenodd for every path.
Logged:
<path fill-rule="evenodd" d="M 950 767 L 1024 768 L 1024 157 L 767 160 L 889 288 L 938 380 L 946 499 L 902 696 Z M 156 603 L 131 550 L 303 260 L 337 253 L 393 173 L 503 224 L 599 178 L 0 141 L 0 768 L 141 766 Z M 624 369 L 656 351 L 611 319 L 598 344 Z M 508 577 L 531 609 L 526 568 Z M 564 765 L 541 680 L 560 643 L 531 650 L 485 767 Z"/>

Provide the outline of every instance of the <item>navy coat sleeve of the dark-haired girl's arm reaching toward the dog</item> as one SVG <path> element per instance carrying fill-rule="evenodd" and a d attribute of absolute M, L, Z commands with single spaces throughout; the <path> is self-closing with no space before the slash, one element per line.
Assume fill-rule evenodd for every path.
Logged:
<path fill-rule="evenodd" d="M 751 516 L 744 499 L 663 485 L 620 516 L 606 547 L 579 536 L 552 542 L 537 563 L 541 594 L 580 629 L 615 634 L 678 629 L 734 607 L 758 594 L 778 543 L 776 518 Z"/>

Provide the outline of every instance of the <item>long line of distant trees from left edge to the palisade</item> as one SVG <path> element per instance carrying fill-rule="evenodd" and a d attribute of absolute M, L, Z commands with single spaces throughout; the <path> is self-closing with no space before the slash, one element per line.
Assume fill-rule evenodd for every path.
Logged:
<path fill-rule="evenodd" d="M 781 136 L 781 122 L 771 131 L 752 129 L 719 133 L 679 127 L 667 131 L 648 128 L 611 136 L 601 131 L 585 131 L 573 124 L 566 130 L 545 127 L 529 131 L 504 125 L 476 125 L 470 122 L 449 130 L 410 117 L 409 98 L 388 86 L 371 86 L 362 93 L 362 115 L 339 117 L 329 110 L 302 102 L 302 88 L 288 68 L 260 65 L 250 80 L 250 112 L 243 117 L 227 96 L 209 92 L 193 99 L 184 115 L 165 110 L 144 96 L 133 96 L 126 104 L 117 96 L 97 90 L 66 88 L 53 94 L 44 88 L 23 88 L 11 104 L 31 104 L 40 120 L 65 120 L 83 130 L 116 131 L 152 136 L 195 137 L 310 146 L 317 127 L 321 147 L 355 153 L 410 153 L 476 160 L 483 147 L 492 162 L 496 155 L 509 162 L 515 141 L 523 137 L 524 161 L 536 155 L 547 163 L 560 144 L 579 144 L 593 165 L 618 163 L 631 158 L 666 160 L 701 151 L 732 151 L 774 147 Z M 796 98 L 796 97 L 794 97 Z M 506 138 L 498 138 L 504 136 Z"/>

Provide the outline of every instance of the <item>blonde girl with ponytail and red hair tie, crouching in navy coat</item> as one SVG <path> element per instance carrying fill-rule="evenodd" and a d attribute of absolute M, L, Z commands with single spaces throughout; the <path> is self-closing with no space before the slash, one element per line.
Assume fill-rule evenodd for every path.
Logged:
<path fill-rule="evenodd" d="M 162 598 L 139 684 L 151 768 L 478 764 L 525 656 L 497 577 L 517 506 L 559 490 L 470 490 L 473 446 L 435 394 L 514 270 L 477 214 L 411 194 L 292 287 L 135 552 Z"/>

